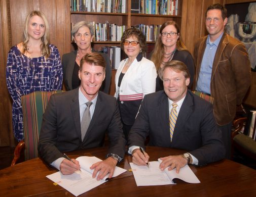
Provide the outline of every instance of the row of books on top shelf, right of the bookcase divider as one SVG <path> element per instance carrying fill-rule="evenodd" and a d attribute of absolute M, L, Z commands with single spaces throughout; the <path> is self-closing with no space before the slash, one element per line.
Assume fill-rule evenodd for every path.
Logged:
<path fill-rule="evenodd" d="M 131 0 L 131 13 L 178 15 L 178 0 Z"/>

